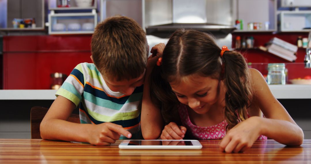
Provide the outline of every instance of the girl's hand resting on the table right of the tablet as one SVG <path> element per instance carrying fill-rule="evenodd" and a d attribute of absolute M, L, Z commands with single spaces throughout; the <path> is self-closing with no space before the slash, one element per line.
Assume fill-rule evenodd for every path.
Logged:
<path fill-rule="evenodd" d="M 227 153 L 244 152 L 260 136 L 260 117 L 249 117 L 228 131 L 220 143 L 220 150 Z"/>

